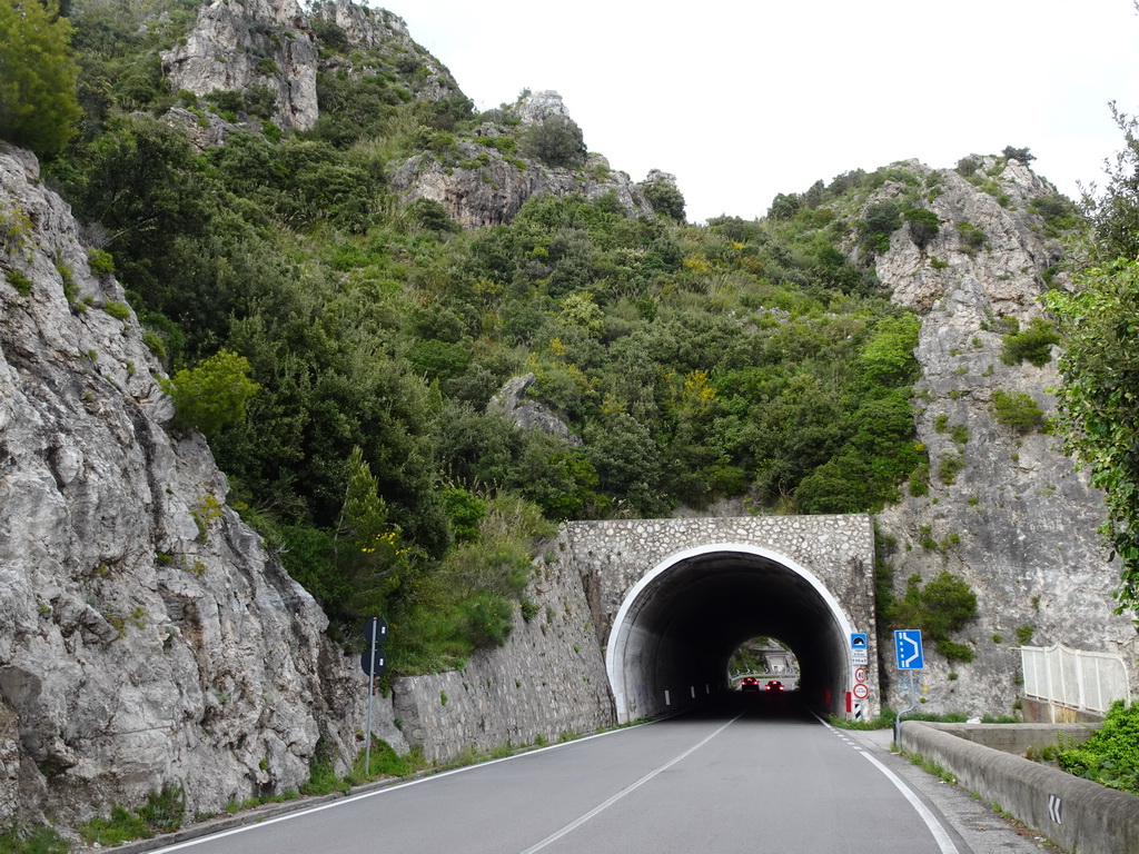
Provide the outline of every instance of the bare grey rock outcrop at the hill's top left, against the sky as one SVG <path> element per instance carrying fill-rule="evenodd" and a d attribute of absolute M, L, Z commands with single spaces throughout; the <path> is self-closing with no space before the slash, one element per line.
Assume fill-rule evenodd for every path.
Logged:
<path fill-rule="evenodd" d="M 195 95 L 267 85 L 274 121 L 308 130 L 317 121 L 317 43 L 296 0 L 214 0 L 185 44 L 162 54 L 171 89 Z"/>

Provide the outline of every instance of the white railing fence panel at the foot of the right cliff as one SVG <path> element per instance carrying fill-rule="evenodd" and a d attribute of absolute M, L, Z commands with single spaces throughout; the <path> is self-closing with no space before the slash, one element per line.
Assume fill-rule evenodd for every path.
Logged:
<path fill-rule="evenodd" d="M 1121 656 L 1063 643 L 1021 647 L 1024 693 L 1067 708 L 1107 712 L 1114 700 L 1131 701 L 1131 682 Z"/>

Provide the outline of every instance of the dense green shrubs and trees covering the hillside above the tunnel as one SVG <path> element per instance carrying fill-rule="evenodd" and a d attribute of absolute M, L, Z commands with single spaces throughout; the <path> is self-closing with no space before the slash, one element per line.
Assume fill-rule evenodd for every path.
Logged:
<path fill-rule="evenodd" d="M 872 263 L 937 228 L 927 179 L 859 171 L 706 227 L 667 183 L 654 216 L 544 196 L 464 232 L 435 203 L 401 204 L 392 164 L 459 167 L 477 139 L 519 169 L 584 169 L 580 129 L 415 97 L 421 57 L 353 48 L 318 19 L 321 120 L 282 132 L 263 93 L 166 90 L 157 50 L 195 6 L 158 6 L 75 3 L 83 122 L 46 175 L 171 375 L 174 428 L 206 433 L 230 502 L 336 624 L 388 616 L 395 671 L 501 642 L 518 608 L 538 618 L 524 590 L 557 520 L 724 496 L 863 511 L 924 485 L 918 320 Z M 238 129 L 197 150 L 159 121 L 175 105 Z M 474 137 L 486 122 L 500 134 Z M 885 181 L 906 194 L 863 212 Z M 487 410 L 527 372 L 580 445 Z"/>

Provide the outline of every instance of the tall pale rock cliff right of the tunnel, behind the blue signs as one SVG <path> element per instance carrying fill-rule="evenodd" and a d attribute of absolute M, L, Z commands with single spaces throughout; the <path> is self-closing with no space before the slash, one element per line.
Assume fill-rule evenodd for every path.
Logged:
<path fill-rule="evenodd" d="M 1016 161 L 999 171 L 994 158 L 975 159 L 986 176 L 999 172 L 995 190 L 982 191 L 951 170 L 900 164 L 941 189 L 927 204 L 941 220 L 934 239 L 919 249 L 903 227 L 877 261 L 894 301 L 923 318 L 917 428 L 933 474 L 928 495 L 907 495 L 878 520 L 898 540 L 887 556 L 896 593 L 910 575 L 928 581 L 943 569 L 977 593 L 980 616 L 957 638 L 976 658 L 949 664 L 927 655 L 923 711 L 1009 714 L 1019 689 L 1018 629 L 1026 634 L 1031 627 L 1031 646 L 1063 642 L 1123 656 L 1132 691 L 1139 642 L 1129 619 L 1112 614 L 1117 567 L 1106 563 L 1096 535 L 1100 495 L 1075 471 L 1059 438 L 1022 435 L 994 417 L 998 391 L 1031 395 L 1047 416 L 1056 413 L 1048 391 L 1059 379 L 1056 348 L 1042 368 L 1008 366 L 1000 355 L 1008 319 L 1024 327 L 1042 314 L 1044 271 L 1062 249 L 1030 211 L 1031 199 L 1051 188 Z M 911 191 L 886 184 L 877 198 Z M 960 223 L 978 229 L 983 245 L 970 246 Z M 1054 284 L 1063 287 L 1064 276 Z M 965 442 L 954 441 L 951 428 L 958 425 L 967 429 Z M 940 477 L 941 461 L 958 458 L 956 476 Z M 950 672 L 958 676 L 949 679 Z M 893 673 L 893 662 L 885 662 L 884 675 Z M 906 705 L 895 693 L 890 705 L 898 704 Z"/>

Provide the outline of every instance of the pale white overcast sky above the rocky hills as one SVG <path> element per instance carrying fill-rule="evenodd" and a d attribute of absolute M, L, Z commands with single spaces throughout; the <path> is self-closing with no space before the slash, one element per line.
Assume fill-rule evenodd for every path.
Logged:
<path fill-rule="evenodd" d="M 585 145 L 752 219 L 852 169 L 1027 147 L 1075 196 L 1139 112 L 1132 0 L 387 0 L 478 109 L 560 92 Z"/>

